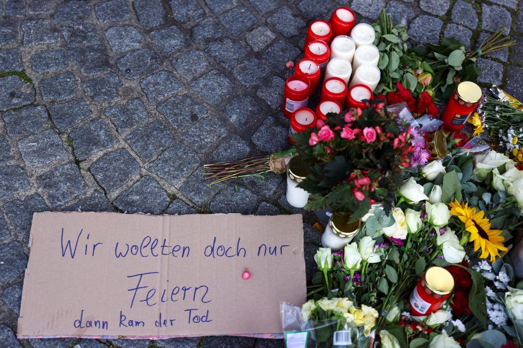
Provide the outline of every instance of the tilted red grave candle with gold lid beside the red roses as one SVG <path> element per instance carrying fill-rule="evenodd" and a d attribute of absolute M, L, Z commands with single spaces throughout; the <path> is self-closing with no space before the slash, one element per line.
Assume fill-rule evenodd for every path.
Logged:
<path fill-rule="evenodd" d="M 463 128 L 465 122 L 476 109 L 483 93 L 480 86 L 470 81 L 461 82 L 450 97 L 441 114 L 445 129 L 456 131 Z"/>

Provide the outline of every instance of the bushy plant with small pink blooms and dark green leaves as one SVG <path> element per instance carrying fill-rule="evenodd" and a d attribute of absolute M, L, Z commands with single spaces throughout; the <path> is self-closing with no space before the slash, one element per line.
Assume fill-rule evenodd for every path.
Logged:
<path fill-rule="evenodd" d="M 316 127 L 292 134 L 294 147 L 310 165 L 299 187 L 310 193 L 306 210 L 365 215 L 371 204 L 390 211 L 402 169 L 411 167 L 416 147 L 411 125 L 387 112 L 383 100 L 364 100 L 366 108 L 327 114 Z"/>

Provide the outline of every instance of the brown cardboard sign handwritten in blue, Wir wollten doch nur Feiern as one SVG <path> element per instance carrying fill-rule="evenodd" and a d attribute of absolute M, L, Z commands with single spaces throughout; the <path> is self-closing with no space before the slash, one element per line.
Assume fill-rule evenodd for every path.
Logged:
<path fill-rule="evenodd" d="M 18 338 L 281 334 L 305 302 L 301 215 L 35 213 L 29 244 Z"/>

